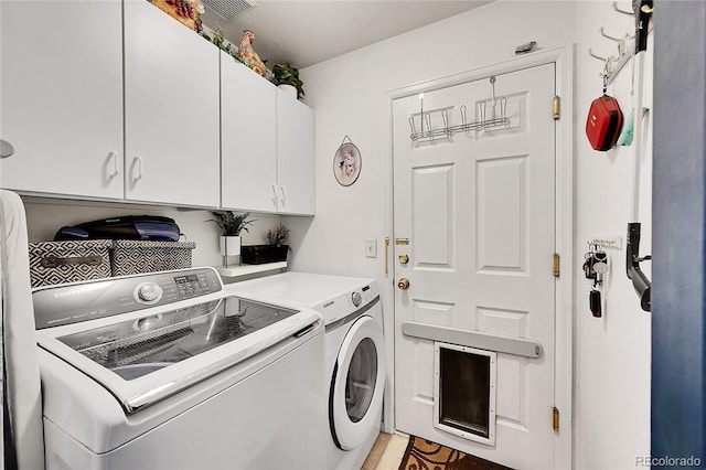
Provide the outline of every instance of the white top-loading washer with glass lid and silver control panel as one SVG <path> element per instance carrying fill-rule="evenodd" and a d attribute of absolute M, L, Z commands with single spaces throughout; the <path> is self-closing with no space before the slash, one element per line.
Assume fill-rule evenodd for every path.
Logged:
<path fill-rule="evenodd" d="M 49 469 L 325 466 L 321 316 L 213 268 L 33 291 Z"/>

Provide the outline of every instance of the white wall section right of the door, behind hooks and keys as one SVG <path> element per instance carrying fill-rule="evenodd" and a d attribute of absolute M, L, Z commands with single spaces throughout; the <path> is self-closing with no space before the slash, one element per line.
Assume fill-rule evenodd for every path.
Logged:
<path fill-rule="evenodd" d="M 619 2 L 630 10 L 629 2 Z M 634 143 L 608 152 L 593 151 L 585 138 L 590 102 L 601 94 L 598 76 L 602 63 L 588 55 L 588 47 L 601 56 L 616 54 L 612 36 L 634 31 L 634 20 L 616 13 L 608 1 L 579 2 L 576 11 L 578 36 L 576 158 L 575 158 L 575 246 L 576 263 L 588 248 L 587 241 L 599 235 L 621 236 L 625 242 L 631 221 L 631 191 Z M 645 56 L 645 102 L 652 105 L 652 38 Z M 628 119 L 632 108 L 632 63 L 618 75 L 608 94 L 619 99 Z M 645 121 L 651 127 L 648 116 Z M 652 132 L 645 132 L 645 154 L 641 159 L 640 222 L 641 255 L 651 253 Z M 575 461 L 580 468 L 634 468 L 637 456 L 650 455 L 650 362 L 651 318 L 639 307 L 625 276 L 625 252 L 607 249 L 611 271 L 607 282 L 607 308 L 602 319 L 588 310 L 589 281 L 577 273 L 575 316 Z M 645 273 L 650 276 L 649 263 Z M 578 266 L 580 267 L 580 266 Z"/>

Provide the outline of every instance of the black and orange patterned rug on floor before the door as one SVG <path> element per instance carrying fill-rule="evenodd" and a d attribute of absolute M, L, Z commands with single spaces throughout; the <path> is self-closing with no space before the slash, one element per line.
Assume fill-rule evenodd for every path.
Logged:
<path fill-rule="evenodd" d="M 484 460 L 440 444 L 409 436 L 409 444 L 399 470 L 510 470 L 509 467 Z"/>

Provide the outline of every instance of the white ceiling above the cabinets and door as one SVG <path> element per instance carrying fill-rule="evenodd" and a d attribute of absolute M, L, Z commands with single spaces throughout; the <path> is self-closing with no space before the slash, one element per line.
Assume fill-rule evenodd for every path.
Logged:
<path fill-rule="evenodd" d="M 212 11 L 202 21 L 236 45 L 252 30 L 253 47 L 270 68 L 281 62 L 303 68 L 490 1 L 257 0 L 231 21 Z"/>

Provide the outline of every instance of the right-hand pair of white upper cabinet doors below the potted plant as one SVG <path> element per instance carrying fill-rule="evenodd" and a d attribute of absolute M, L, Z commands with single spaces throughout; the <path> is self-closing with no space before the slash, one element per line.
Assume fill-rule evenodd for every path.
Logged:
<path fill-rule="evenodd" d="M 314 213 L 313 110 L 221 55 L 221 204 Z"/>

